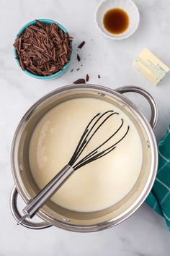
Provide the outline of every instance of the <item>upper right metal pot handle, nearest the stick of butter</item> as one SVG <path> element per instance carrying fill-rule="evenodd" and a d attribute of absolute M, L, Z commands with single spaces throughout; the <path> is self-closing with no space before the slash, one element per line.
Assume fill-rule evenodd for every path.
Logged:
<path fill-rule="evenodd" d="M 148 93 L 146 90 L 143 90 L 143 88 L 137 87 L 137 86 L 123 86 L 120 88 L 115 89 L 118 93 L 139 93 L 140 95 L 143 95 L 143 97 L 146 98 L 149 105 L 151 106 L 151 120 L 150 124 L 152 129 L 156 127 L 157 121 L 158 121 L 158 107 L 156 105 L 156 101 L 153 99 L 150 93 Z"/>

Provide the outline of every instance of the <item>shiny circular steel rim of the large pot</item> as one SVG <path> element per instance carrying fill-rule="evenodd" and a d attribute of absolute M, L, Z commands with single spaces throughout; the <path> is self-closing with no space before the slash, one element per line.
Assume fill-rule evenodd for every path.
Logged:
<path fill-rule="evenodd" d="M 127 210 L 125 210 L 124 213 L 122 213 L 120 216 L 113 218 L 109 221 L 104 221 L 102 223 L 98 223 L 95 225 L 89 225 L 89 226 L 82 226 L 82 225 L 73 225 L 71 223 L 66 223 L 63 221 L 54 220 L 52 217 L 50 217 L 47 213 L 45 213 L 44 210 L 40 209 L 36 215 L 42 218 L 42 220 L 47 221 L 53 226 L 57 226 L 61 229 L 66 229 L 68 231 L 79 231 L 79 232 L 89 232 L 89 231 L 100 231 L 103 229 L 111 228 L 112 226 L 117 225 L 118 223 L 121 223 L 122 221 L 125 221 L 128 217 L 130 217 L 133 213 L 135 213 L 138 208 L 140 208 L 140 205 L 143 204 L 143 202 L 146 200 L 146 197 L 148 196 L 149 192 L 151 191 L 151 188 L 153 186 L 153 183 L 156 178 L 156 172 L 158 167 L 158 149 L 157 149 L 157 143 L 156 138 L 153 133 L 153 129 L 151 128 L 151 125 L 148 123 L 148 120 L 143 115 L 143 113 L 140 111 L 140 109 L 135 106 L 135 104 L 130 101 L 128 98 L 126 98 L 124 95 L 117 92 L 117 89 L 113 90 L 107 87 L 104 87 L 102 85 L 93 85 L 93 84 L 79 84 L 79 85 L 65 85 L 61 88 L 55 89 L 51 91 L 50 93 L 44 95 L 42 98 L 40 98 L 38 101 L 33 104 L 29 110 L 24 114 L 21 121 L 19 121 L 18 127 L 16 129 L 16 132 L 14 133 L 14 138 L 12 140 L 12 149 L 11 149 L 11 166 L 12 166 L 12 175 L 14 178 L 14 184 L 17 187 L 17 191 L 19 192 L 19 195 L 22 196 L 22 199 L 24 202 L 28 203 L 29 199 L 27 197 L 27 193 L 24 192 L 22 187 L 19 184 L 19 180 L 17 177 L 17 173 L 14 166 L 14 150 L 17 142 L 17 136 L 19 134 L 19 131 L 22 129 L 24 122 L 27 121 L 27 118 L 34 114 L 34 111 L 38 106 L 40 106 L 41 103 L 44 103 L 48 98 L 53 97 L 55 95 L 66 93 L 67 91 L 73 91 L 73 90 L 99 90 L 98 93 L 107 93 L 108 95 L 111 95 L 115 98 L 118 98 L 122 101 L 128 108 L 130 108 L 131 111 L 133 111 L 133 114 L 138 117 L 140 122 L 143 124 L 144 129 L 146 130 L 146 134 L 148 135 L 148 138 L 150 142 L 152 143 L 151 149 L 152 149 L 152 159 L 151 159 L 151 171 L 148 176 L 148 181 L 146 182 L 145 187 L 143 188 L 143 192 L 138 197 L 138 200 L 135 200 L 133 202 L 133 205 L 130 206 Z"/>

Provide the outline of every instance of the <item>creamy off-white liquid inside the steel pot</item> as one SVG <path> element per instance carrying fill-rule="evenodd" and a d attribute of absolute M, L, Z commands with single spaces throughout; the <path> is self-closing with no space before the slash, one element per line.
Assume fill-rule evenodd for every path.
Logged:
<path fill-rule="evenodd" d="M 111 144 L 128 135 L 108 155 L 75 171 L 51 200 L 75 211 L 102 210 L 122 200 L 130 192 L 143 161 L 140 136 L 133 122 L 119 108 L 94 98 L 77 98 L 51 109 L 35 128 L 30 142 L 30 166 L 42 188 L 71 158 L 86 125 L 99 112 L 114 110 L 115 115 L 100 129 L 84 150 L 84 155 L 106 140 L 121 124 L 124 126 Z"/>

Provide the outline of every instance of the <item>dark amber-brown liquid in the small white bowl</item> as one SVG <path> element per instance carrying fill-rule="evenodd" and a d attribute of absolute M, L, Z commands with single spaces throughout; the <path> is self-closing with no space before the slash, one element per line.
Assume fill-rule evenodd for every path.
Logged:
<path fill-rule="evenodd" d="M 112 34 L 121 34 L 128 29 L 129 16 L 120 8 L 109 9 L 103 18 L 105 29 Z"/>

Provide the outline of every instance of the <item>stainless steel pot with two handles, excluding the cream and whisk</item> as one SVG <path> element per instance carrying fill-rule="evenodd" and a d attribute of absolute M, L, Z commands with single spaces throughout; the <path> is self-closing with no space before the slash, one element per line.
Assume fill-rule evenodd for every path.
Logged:
<path fill-rule="evenodd" d="M 143 95 L 151 106 L 150 124 L 145 116 L 126 98 L 123 93 L 133 92 Z M 156 126 L 158 111 L 152 96 L 142 88 L 125 86 L 116 90 L 104 88 L 100 85 L 68 85 L 45 95 L 37 101 L 17 127 L 12 143 L 12 174 L 14 188 L 11 194 L 11 210 L 16 221 L 22 217 L 17 208 L 17 195 L 22 196 L 24 202 L 29 203 L 40 189 L 35 183 L 30 171 L 28 149 L 30 138 L 38 121 L 54 106 L 72 98 L 102 98 L 103 101 L 118 106 L 127 114 L 138 129 L 143 144 L 143 164 L 133 189 L 120 202 L 112 207 L 91 213 L 78 213 L 67 210 L 49 200 L 37 216 L 41 223 L 24 220 L 22 226 L 30 229 L 45 229 L 58 226 L 69 231 L 99 231 L 115 226 L 131 216 L 144 202 L 153 186 L 158 165 L 158 151 L 153 128 Z"/>

